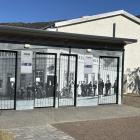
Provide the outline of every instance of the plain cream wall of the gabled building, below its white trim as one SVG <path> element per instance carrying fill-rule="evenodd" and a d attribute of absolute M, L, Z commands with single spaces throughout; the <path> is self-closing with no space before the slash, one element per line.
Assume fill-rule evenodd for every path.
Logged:
<path fill-rule="evenodd" d="M 59 27 L 58 31 L 111 37 L 113 35 L 113 23 L 116 23 L 116 37 L 138 39 L 137 43 L 125 47 L 125 70 L 127 68 L 133 70 L 139 67 L 140 25 L 121 15 Z"/>

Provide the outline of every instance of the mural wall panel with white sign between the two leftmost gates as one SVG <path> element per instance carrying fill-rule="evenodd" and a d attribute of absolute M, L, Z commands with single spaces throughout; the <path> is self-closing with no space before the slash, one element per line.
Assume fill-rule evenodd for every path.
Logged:
<path fill-rule="evenodd" d="M 34 108 L 34 53 L 24 51 L 29 59 L 22 56 L 22 53 L 19 52 L 18 56 L 16 110 Z"/>

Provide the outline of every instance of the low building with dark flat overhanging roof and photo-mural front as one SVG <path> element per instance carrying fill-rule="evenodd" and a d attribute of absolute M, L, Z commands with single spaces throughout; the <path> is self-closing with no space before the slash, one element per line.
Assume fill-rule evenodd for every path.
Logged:
<path fill-rule="evenodd" d="M 121 104 L 124 46 L 136 42 L 0 26 L 0 109 Z"/>

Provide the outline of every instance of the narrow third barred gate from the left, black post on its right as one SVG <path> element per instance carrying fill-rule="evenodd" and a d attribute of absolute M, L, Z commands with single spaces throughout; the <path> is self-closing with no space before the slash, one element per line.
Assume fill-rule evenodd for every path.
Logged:
<path fill-rule="evenodd" d="M 58 106 L 76 106 L 77 55 L 60 55 Z"/>

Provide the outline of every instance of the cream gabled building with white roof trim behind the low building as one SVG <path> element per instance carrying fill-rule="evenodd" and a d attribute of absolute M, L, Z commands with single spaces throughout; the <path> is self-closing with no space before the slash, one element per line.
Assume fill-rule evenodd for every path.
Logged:
<path fill-rule="evenodd" d="M 125 51 L 124 72 L 126 76 L 124 83 L 126 88 L 124 92 L 140 94 L 140 87 L 138 87 L 138 83 L 136 83 L 136 75 L 140 75 L 139 16 L 136 17 L 124 10 L 120 10 L 56 22 L 53 28 L 48 28 L 47 30 L 108 37 L 137 38 L 138 41 L 134 44 L 129 44 Z"/>

